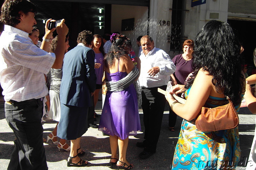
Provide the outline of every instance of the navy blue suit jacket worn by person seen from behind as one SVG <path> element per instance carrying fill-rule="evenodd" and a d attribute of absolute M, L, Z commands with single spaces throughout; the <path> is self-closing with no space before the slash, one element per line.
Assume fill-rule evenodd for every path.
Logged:
<path fill-rule="evenodd" d="M 77 107 L 91 107 L 91 92 L 96 88 L 95 53 L 91 48 L 76 46 L 65 54 L 60 85 L 60 102 Z"/>

